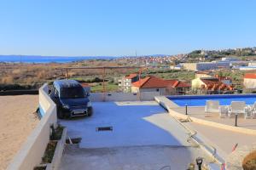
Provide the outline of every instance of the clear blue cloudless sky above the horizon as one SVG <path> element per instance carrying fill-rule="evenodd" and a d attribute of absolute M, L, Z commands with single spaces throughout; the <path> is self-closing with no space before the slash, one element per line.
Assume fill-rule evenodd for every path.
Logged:
<path fill-rule="evenodd" d="M 253 0 L 0 0 L 0 54 L 180 54 L 256 46 Z"/>

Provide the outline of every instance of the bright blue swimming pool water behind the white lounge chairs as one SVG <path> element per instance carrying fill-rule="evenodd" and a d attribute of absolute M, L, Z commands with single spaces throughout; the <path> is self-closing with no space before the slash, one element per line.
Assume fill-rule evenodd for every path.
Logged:
<path fill-rule="evenodd" d="M 230 105 L 231 101 L 245 101 L 247 105 L 253 105 L 256 94 L 169 96 L 167 98 L 179 106 L 204 106 L 207 100 L 218 100 L 220 105 Z"/>

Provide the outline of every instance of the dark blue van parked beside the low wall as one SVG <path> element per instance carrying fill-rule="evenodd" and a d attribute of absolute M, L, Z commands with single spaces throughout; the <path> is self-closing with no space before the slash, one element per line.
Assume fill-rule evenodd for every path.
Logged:
<path fill-rule="evenodd" d="M 50 98 L 57 107 L 58 118 L 91 116 L 89 93 L 75 80 L 57 80 L 53 83 Z"/>

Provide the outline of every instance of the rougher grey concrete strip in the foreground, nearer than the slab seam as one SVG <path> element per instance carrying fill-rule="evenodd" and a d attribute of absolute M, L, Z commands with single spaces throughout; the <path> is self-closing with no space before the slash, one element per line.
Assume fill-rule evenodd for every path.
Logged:
<path fill-rule="evenodd" d="M 62 156 L 61 170 L 173 170 L 187 169 L 196 157 L 203 156 L 199 148 L 164 145 L 126 146 L 101 149 L 67 147 Z M 170 170 L 170 167 L 164 170 Z"/>

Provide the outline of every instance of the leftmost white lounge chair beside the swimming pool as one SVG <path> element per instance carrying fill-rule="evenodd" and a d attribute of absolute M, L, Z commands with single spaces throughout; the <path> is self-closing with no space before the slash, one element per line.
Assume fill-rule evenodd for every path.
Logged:
<path fill-rule="evenodd" d="M 220 117 L 226 116 L 226 112 L 224 108 L 219 105 L 218 100 L 207 100 L 205 106 L 205 113 L 208 116 L 209 113 L 218 113 Z"/>

